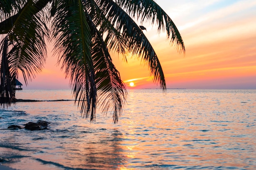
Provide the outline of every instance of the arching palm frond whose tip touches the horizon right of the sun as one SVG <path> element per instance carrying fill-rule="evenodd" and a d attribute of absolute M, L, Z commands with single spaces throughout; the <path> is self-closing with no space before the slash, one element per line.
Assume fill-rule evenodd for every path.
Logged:
<path fill-rule="evenodd" d="M 128 51 L 148 63 L 154 81 L 159 83 L 161 88 L 166 89 L 164 72 L 157 54 L 139 26 L 112 0 L 99 0 L 98 4 L 108 20 L 115 24 L 116 29 L 122 33 Z"/>

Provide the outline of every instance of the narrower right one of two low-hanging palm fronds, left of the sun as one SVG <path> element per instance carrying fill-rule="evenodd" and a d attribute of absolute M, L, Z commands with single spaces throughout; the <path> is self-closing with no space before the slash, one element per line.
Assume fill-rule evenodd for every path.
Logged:
<path fill-rule="evenodd" d="M 120 74 L 112 63 L 108 48 L 104 40 L 93 24 L 90 15 L 87 17 L 90 22 L 92 33 L 92 59 L 95 70 L 95 82 L 97 94 L 101 103 L 103 113 L 113 108 L 113 122 L 118 122 L 124 102 L 126 101 L 126 87 L 121 81 Z"/>

